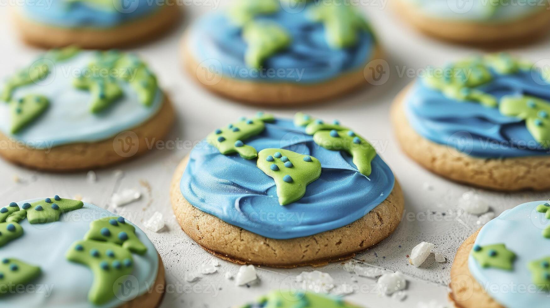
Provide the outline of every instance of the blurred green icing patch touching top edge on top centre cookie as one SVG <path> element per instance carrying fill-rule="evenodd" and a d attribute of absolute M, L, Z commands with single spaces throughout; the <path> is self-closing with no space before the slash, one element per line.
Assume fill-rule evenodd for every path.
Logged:
<path fill-rule="evenodd" d="M 280 8 L 277 0 L 235 0 L 228 10 L 228 16 L 233 23 L 243 26 L 256 15 L 273 14 Z"/>

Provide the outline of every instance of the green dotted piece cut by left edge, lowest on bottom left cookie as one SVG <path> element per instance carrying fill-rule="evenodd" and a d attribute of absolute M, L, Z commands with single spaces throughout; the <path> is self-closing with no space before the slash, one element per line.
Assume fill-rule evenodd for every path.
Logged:
<path fill-rule="evenodd" d="M 0 263 L 0 295 L 17 293 L 20 285 L 25 285 L 40 276 L 40 267 L 32 266 L 17 259 L 2 259 Z"/>

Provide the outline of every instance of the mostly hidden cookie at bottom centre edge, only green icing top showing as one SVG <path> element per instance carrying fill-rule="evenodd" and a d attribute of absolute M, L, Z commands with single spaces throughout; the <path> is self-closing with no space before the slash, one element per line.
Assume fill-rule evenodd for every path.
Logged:
<path fill-rule="evenodd" d="M 262 296 L 255 303 L 239 308 L 361 308 L 346 303 L 342 298 L 304 292 L 302 290 L 277 290 Z"/>

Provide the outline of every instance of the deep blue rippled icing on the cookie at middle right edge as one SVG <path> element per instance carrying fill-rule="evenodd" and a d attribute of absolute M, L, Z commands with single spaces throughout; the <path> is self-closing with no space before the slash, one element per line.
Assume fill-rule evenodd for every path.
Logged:
<path fill-rule="evenodd" d="M 493 80 L 474 89 L 498 99 L 504 95 L 525 94 L 550 101 L 550 85 L 534 71 L 520 71 L 513 75 L 500 75 L 492 69 L 491 72 Z M 454 146 L 471 156 L 524 157 L 550 153 L 529 133 L 524 120 L 504 116 L 498 108 L 445 97 L 441 91 L 426 86 L 422 80 L 412 87 L 405 102 L 407 118 L 417 133 L 438 144 Z M 491 146 L 491 142 L 496 142 L 498 146 Z"/>

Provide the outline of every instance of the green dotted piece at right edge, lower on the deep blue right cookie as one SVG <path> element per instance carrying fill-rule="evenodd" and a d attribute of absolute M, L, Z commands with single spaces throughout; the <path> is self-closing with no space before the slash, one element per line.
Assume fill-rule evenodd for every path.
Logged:
<path fill-rule="evenodd" d="M 529 106 L 531 104 L 531 106 Z M 550 102 L 531 96 L 504 96 L 500 113 L 525 120 L 529 133 L 543 147 L 550 147 Z"/>

